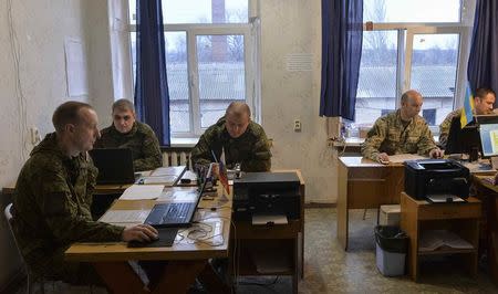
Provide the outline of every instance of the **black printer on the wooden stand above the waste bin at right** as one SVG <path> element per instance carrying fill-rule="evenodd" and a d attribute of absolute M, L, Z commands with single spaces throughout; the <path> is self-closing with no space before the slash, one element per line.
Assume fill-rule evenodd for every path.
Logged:
<path fill-rule="evenodd" d="M 415 199 L 432 196 L 468 198 L 470 172 L 453 159 L 405 161 L 405 192 Z"/>

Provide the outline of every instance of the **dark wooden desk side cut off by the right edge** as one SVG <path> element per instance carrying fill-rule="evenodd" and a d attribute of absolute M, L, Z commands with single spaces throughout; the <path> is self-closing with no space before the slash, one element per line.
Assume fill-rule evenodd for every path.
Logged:
<path fill-rule="evenodd" d="M 477 198 L 483 201 L 481 250 L 488 252 L 491 281 L 498 284 L 498 186 L 484 180 L 489 176 L 473 176 Z"/>

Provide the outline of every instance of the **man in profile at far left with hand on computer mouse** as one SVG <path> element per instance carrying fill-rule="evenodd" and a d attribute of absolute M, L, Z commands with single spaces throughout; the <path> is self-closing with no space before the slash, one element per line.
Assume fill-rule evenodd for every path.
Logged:
<path fill-rule="evenodd" d="M 157 231 L 93 221 L 90 213 L 96 168 L 87 150 L 98 137 L 95 111 L 81 102 L 60 105 L 52 117 L 55 133 L 31 151 L 19 175 L 12 228 L 34 277 L 70 283 L 98 283 L 92 266 L 64 262 L 74 242 L 149 241 Z"/>

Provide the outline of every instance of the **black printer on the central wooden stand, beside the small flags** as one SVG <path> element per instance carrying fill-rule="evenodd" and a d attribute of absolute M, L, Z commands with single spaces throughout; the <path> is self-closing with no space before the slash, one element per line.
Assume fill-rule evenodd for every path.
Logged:
<path fill-rule="evenodd" d="M 300 218 L 300 180 L 295 172 L 245 172 L 234 179 L 234 219 L 252 216 Z"/>

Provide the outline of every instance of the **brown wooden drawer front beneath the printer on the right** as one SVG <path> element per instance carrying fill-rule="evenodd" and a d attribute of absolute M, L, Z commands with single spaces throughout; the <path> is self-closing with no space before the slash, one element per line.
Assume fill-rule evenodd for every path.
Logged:
<path fill-rule="evenodd" d="M 477 219 L 480 203 L 426 204 L 418 210 L 418 220 Z"/>

